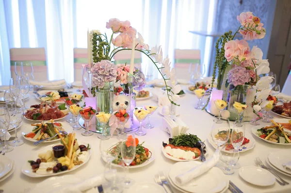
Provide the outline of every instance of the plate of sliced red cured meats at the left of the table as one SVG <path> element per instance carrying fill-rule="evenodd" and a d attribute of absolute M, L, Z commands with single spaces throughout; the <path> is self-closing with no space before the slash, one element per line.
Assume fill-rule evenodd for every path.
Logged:
<path fill-rule="evenodd" d="M 65 107 L 65 104 L 57 105 L 54 101 L 52 101 L 51 104 L 42 102 L 41 104 L 31 105 L 30 107 L 31 108 L 27 109 L 24 113 L 24 118 L 36 122 L 50 119 L 63 119 L 69 112 L 69 110 Z"/>

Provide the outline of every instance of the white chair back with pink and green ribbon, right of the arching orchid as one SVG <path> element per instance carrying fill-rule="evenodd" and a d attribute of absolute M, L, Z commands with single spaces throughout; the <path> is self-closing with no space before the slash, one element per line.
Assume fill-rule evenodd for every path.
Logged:
<path fill-rule="evenodd" d="M 198 49 L 175 49 L 175 69 L 178 79 L 191 79 L 190 64 L 200 64 L 200 50 Z"/>

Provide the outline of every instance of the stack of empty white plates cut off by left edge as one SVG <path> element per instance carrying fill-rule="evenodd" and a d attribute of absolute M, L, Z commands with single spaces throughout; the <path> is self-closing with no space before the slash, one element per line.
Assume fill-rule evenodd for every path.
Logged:
<path fill-rule="evenodd" d="M 15 162 L 6 156 L 0 155 L 0 182 L 8 178 L 15 169 Z"/>

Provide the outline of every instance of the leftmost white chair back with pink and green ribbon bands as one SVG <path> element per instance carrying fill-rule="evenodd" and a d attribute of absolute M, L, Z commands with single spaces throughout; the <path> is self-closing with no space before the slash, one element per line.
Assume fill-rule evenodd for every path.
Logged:
<path fill-rule="evenodd" d="M 23 68 L 21 67 L 23 63 Z M 16 66 L 15 66 L 16 63 Z M 31 68 L 30 63 L 32 63 Z M 26 66 L 25 64 L 28 64 Z M 11 77 L 16 78 L 15 72 L 29 71 L 33 73 L 34 80 L 48 80 L 47 57 L 45 48 L 11 48 L 10 49 L 10 70 Z M 25 73 L 26 74 L 26 73 Z"/>

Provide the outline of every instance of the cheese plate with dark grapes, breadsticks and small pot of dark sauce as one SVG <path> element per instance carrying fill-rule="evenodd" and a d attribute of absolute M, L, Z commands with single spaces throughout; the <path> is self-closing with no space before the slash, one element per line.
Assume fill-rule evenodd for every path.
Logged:
<path fill-rule="evenodd" d="M 74 171 L 90 159 L 90 145 L 78 141 L 75 134 L 61 137 L 61 142 L 33 151 L 22 166 L 22 173 L 32 178 L 56 176 Z"/>

